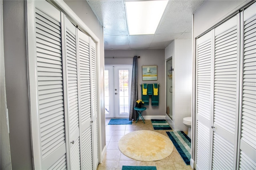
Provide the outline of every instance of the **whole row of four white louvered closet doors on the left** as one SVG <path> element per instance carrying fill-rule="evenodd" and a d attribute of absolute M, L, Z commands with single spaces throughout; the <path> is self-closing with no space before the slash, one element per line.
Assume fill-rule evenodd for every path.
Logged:
<path fill-rule="evenodd" d="M 96 169 L 96 43 L 49 2 L 27 4 L 34 167 Z"/>

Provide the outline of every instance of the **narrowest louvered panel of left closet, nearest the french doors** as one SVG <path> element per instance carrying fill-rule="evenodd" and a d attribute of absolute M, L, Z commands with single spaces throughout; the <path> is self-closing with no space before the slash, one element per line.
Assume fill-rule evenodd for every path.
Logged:
<path fill-rule="evenodd" d="M 92 77 L 92 128 L 93 128 L 93 166 L 98 166 L 98 93 L 97 93 L 97 63 L 96 63 L 96 43 L 90 39 L 91 51 L 91 77 Z"/>

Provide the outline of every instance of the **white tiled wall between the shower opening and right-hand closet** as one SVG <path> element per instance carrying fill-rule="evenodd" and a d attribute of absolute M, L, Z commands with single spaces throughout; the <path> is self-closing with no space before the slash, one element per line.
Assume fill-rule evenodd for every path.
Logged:
<path fill-rule="evenodd" d="M 188 131 L 184 117 L 191 116 L 192 40 L 174 40 L 165 51 L 172 57 L 172 125 L 174 130 Z M 168 57 L 169 56 L 169 57 Z"/>

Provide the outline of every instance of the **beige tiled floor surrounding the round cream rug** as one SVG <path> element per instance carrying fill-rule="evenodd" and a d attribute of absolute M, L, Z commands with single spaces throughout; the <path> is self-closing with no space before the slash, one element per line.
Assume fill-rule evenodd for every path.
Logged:
<path fill-rule="evenodd" d="M 102 164 L 97 170 L 122 170 L 122 166 L 156 166 L 157 170 L 192 170 L 190 165 L 186 165 L 175 146 L 172 154 L 165 159 L 143 162 L 128 158 L 118 149 L 118 141 L 125 134 L 136 130 L 152 130 L 167 136 L 168 130 L 154 130 L 151 120 L 142 120 L 137 123 L 132 121 L 132 125 L 108 125 L 110 119 L 106 119 L 106 147 L 107 151 L 103 157 Z M 170 131 L 170 130 L 169 130 Z M 168 136 L 167 136 L 168 137 Z"/>

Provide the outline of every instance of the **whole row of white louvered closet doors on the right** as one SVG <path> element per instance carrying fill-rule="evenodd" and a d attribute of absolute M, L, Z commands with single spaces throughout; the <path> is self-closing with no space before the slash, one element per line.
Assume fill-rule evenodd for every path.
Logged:
<path fill-rule="evenodd" d="M 210 112 L 210 160 L 208 153 L 205 154 L 205 150 L 209 150 L 205 139 L 207 136 L 202 137 L 208 131 L 200 125 L 202 113 L 199 109 L 202 105 L 200 47 L 207 34 L 197 39 L 196 169 L 256 169 L 255 9 L 256 2 L 211 31 L 214 33 L 211 41 L 214 49 L 213 60 L 210 63 L 214 74 L 211 78 L 213 81 L 210 82 L 213 88 L 210 94 L 204 93 L 204 103 L 210 97 L 210 105 L 213 106 Z M 204 87 L 207 87 L 206 83 Z M 210 166 L 207 166 L 209 163 Z"/>

